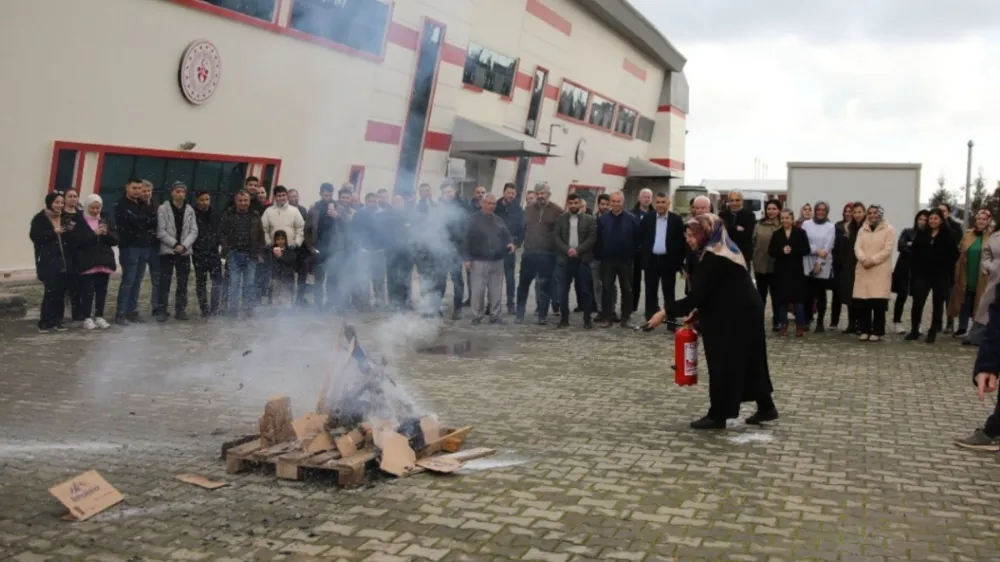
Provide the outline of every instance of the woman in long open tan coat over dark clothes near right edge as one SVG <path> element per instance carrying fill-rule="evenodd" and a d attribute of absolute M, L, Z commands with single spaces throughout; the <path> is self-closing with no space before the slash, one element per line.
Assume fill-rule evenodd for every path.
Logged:
<path fill-rule="evenodd" d="M 958 330 L 952 337 L 961 338 L 969 332 L 969 320 L 986 290 L 986 272 L 980 267 L 983 245 L 993 234 L 990 229 L 992 215 L 986 209 L 976 213 L 972 228 L 958 244 L 958 263 L 955 264 L 955 282 L 948 302 L 948 316 L 958 316 Z"/>

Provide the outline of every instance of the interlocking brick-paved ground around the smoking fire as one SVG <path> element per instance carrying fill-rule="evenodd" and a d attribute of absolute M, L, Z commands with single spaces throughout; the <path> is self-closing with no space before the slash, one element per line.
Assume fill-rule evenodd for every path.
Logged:
<path fill-rule="evenodd" d="M 58 335 L 0 322 L 0 559 L 1000 559 L 998 458 L 950 443 L 987 412 L 973 351 L 950 338 L 771 339 L 781 421 L 694 433 L 707 389 L 673 385 L 666 332 L 448 321 L 482 350 L 448 358 L 409 351 L 422 328 L 367 319 L 361 333 L 506 466 L 345 492 L 229 477 L 218 459 L 270 393 L 302 411 L 329 319 Z M 46 489 L 90 468 L 126 503 L 61 521 Z M 179 472 L 231 486 L 206 492 L 171 480 Z"/>

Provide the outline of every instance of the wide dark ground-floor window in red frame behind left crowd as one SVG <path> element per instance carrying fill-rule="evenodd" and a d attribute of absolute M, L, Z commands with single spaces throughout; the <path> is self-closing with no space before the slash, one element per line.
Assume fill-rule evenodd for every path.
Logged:
<path fill-rule="evenodd" d="M 153 202 L 166 201 L 170 186 L 182 182 L 188 186 L 188 202 L 194 194 L 207 191 L 212 195 L 212 207 L 224 209 L 233 195 L 243 189 L 243 180 L 250 169 L 249 162 L 160 158 L 131 154 L 104 154 L 104 165 L 98 188 L 109 216 L 125 196 L 125 182 L 131 177 L 153 183 Z"/>

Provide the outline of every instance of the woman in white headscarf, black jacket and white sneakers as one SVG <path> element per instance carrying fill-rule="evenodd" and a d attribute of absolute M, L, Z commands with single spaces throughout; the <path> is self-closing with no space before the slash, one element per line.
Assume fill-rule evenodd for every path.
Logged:
<path fill-rule="evenodd" d="M 116 267 L 112 248 L 118 245 L 118 236 L 101 214 L 103 208 L 104 201 L 100 195 L 85 197 L 83 211 L 79 213 L 82 224 L 77 224 L 75 231 L 74 262 L 80 280 L 80 306 L 85 317 L 85 330 L 107 330 L 111 327 L 104 319 L 104 304 L 108 298 L 108 280 Z"/>

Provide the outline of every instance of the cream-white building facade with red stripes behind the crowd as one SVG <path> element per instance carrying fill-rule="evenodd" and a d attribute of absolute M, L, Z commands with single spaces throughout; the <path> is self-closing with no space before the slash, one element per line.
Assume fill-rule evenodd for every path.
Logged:
<path fill-rule="evenodd" d="M 546 181 L 558 203 L 682 183 L 685 60 L 627 0 L 32 0 L 0 21 L 0 216 L 23 226 L 0 272 L 33 268 L 47 191 L 110 213 L 129 177 L 217 205 L 249 175 L 304 204 L 324 182 Z"/>

